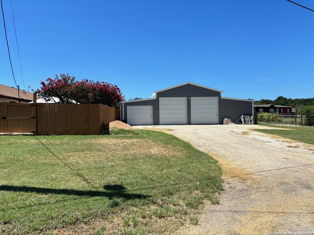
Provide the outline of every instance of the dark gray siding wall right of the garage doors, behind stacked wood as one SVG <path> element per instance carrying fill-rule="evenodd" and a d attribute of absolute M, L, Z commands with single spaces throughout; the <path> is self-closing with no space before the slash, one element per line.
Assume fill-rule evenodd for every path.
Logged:
<path fill-rule="evenodd" d="M 219 124 L 223 123 L 224 118 L 230 118 L 233 122 L 236 122 L 241 115 L 252 114 L 252 103 L 251 101 L 235 100 L 235 99 L 222 99 L 219 98 Z"/>

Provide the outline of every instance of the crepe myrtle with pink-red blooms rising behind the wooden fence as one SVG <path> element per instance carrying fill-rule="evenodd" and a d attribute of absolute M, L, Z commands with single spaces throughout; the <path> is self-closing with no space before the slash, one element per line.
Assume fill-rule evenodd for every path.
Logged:
<path fill-rule="evenodd" d="M 47 78 L 41 82 L 42 87 L 37 90 L 40 97 L 46 101 L 60 103 L 104 104 L 118 108 L 124 96 L 116 85 L 83 79 L 76 81 L 74 76 L 60 74 L 60 78 Z M 58 98 L 59 101 L 55 100 Z"/>

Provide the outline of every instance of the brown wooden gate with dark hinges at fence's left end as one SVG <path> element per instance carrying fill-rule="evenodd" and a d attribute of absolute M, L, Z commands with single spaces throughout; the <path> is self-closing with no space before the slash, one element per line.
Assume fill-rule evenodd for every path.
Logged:
<path fill-rule="evenodd" d="M 0 103 L 0 132 L 36 132 L 36 107 L 33 104 Z"/>

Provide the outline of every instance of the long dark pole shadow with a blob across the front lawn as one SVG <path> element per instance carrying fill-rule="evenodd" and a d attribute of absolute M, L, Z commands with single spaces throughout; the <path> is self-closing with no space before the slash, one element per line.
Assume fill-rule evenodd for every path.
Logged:
<path fill-rule="evenodd" d="M 149 195 L 129 193 L 127 189 L 122 185 L 105 185 L 106 191 L 98 190 L 75 190 L 75 189 L 59 189 L 59 188 L 38 188 L 27 186 L 11 186 L 1 185 L 0 191 L 14 191 L 14 192 L 35 192 L 40 194 L 62 194 L 62 195 L 75 195 L 75 196 L 88 196 L 88 197 L 107 197 L 123 198 L 125 200 L 133 199 L 145 199 L 149 198 Z"/>

